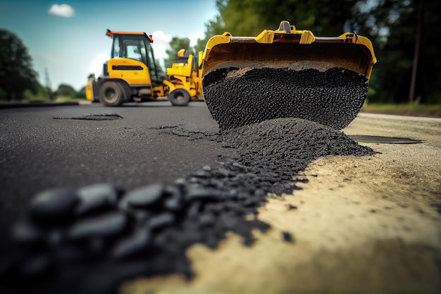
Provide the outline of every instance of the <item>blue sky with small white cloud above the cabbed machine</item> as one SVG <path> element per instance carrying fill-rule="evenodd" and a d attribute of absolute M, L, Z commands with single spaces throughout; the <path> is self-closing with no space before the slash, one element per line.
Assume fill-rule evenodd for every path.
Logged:
<path fill-rule="evenodd" d="M 14 32 L 29 49 L 39 81 L 47 68 L 52 89 L 80 90 L 101 69 L 111 50 L 106 29 L 153 35 L 157 59 L 171 37 L 204 37 L 216 16 L 215 0 L 0 0 L 0 28 Z"/>

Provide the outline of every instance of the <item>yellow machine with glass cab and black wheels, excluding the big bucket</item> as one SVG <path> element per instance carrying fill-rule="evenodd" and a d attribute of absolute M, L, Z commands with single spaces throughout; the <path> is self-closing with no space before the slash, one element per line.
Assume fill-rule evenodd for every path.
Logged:
<path fill-rule="evenodd" d="M 168 80 L 155 62 L 151 35 L 111 30 L 106 35 L 113 38 L 111 59 L 104 63 L 103 76 L 89 76 L 87 99 L 99 100 L 106 106 L 165 96 L 174 106 L 186 106 L 190 102 L 192 90 L 187 90 L 182 80 L 192 74 L 182 67 L 173 80 Z"/>

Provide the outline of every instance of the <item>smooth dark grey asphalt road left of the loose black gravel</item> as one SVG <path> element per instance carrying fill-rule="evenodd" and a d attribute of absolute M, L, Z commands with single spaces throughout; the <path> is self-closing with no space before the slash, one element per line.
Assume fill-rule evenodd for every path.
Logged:
<path fill-rule="evenodd" d="M 0 109 L 0 228 L 38 192 L 113 183 L 132 190 L 173 183 L 231 154 L 204 102 Z"/>

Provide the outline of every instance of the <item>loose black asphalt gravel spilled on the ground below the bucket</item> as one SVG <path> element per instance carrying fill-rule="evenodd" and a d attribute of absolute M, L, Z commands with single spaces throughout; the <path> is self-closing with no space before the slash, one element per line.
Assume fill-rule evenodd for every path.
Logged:
<path fill-rule="evenodd" d="M 212 139 L 211 139 L 212 140 Z M 237 150 L 173 185 L 125 191 L 107 183 L 46 190 L 33 197 L 0 254 L 0 292 L 118 293 L 137 276 L 193 274 L 185 250 L 216 248 L 232 231 L 244 245 L 268 193 L 297 189 L 296 174 L 317 157 L 373 154 L 344 133 L 300 118 L 277 118 L 223 131 L 216 140 Z M 304 181 L 304 180 L 302 180 Z M 281 242 L 294 242 L 282 232 Z"/>

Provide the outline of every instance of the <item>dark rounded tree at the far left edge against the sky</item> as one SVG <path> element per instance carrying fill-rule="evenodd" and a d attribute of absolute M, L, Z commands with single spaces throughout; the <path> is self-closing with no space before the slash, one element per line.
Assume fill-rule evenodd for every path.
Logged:
<path fill-rule="evenodd" d="M 23 99 L 23 92 L 37 94 L 37 72 L 23 41 L 8 30 L 0 29 L 0 92 L 8 100 Z"/>

